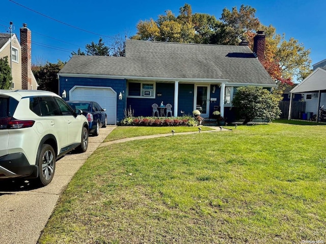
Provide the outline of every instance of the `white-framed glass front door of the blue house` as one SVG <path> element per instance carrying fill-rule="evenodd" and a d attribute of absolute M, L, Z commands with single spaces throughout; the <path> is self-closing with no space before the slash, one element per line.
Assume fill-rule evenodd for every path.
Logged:
<path fill-rule="evenodd" d="M 208 95 L 209 95 L 208 85 L 196 85 L 194 110 L 195 109 L 199 110 L 201 112 L 202 117 L 208 117 L 209 115 Z"/>

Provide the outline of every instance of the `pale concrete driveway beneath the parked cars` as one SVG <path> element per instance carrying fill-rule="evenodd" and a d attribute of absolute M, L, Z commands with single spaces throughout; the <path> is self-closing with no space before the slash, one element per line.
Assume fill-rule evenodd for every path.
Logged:
<path fill-rule="evenodd" d="M 56 203 L 75 172 L 112 132 L 115 126 L 100 129 L 89 137 L 83 154 L 69 154 L 57 161 L 55 177 L 42 188 L 28 182 L 0 181 L 0 243 L 37 243 Z"/>

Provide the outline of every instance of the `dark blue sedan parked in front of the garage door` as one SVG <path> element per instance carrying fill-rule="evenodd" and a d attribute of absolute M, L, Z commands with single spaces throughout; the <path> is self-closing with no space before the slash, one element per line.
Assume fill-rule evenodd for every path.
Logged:
<path fill-rule="evenodd" d="M 97 102 L 93 101 L 67 101 L 67 103 L 73 109 L 80 109 L 83 111 L 83 114 L 86 116 L 89 125 L 89 132 L 95 136 L 98 136 L 100 128 L 106 127 L 107 117 L 105 109 Z"/>

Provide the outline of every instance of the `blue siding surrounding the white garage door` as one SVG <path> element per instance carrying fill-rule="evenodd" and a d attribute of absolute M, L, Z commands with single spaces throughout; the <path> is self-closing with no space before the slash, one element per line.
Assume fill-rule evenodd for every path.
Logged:
<path fill-rule="evenodd" d="M 84 86 L 105 86 L 111 87 L 117 93 L 117 120 L 120 121 L 124 117 L 123 110 L 126 108 L 125 94 L 123 99 L 119 100 L 118 95 L 123 90 L 126 91 L 126 80 L 125 79 L 105 79 L 105 78 L 87 78 L 87 77 L 64 77 L 59 78 L 59 93 L 62 94 L 63 90 L 66 90 L 67 97 L 65 100 L 69 100 L 69 90 L 75 85 Z"/>

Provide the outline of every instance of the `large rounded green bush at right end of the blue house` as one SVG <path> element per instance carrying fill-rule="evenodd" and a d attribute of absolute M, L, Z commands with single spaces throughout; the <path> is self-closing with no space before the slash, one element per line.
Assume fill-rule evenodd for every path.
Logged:
<path fill-rule="evenodd" d="M 244 118 L 243 124 L 246 125 L 254 118 L 269 121 L 279 118 L 281 99 L 280 94 L 270 93 L 262 87 L 242 86 L 238 87 L 232 103 L 237 108 L 238 115 Z"/>

